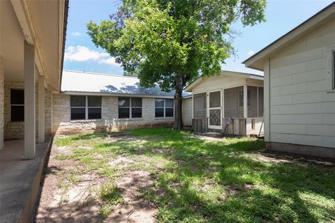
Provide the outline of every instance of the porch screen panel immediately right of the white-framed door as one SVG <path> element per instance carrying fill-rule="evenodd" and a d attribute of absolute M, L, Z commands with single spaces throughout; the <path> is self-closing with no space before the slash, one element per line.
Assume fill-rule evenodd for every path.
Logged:
<path fill-rule="evenodd" d="M 243 86 L 224 90 L 225 118 L 243 118 Z"/>

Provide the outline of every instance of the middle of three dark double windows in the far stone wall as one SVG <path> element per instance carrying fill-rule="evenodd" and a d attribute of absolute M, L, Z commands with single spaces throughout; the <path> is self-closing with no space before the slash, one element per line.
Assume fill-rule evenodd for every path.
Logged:
<path fill-rule="evenodd" d="M 119 98 L 119 118 L 142 118 L 142 98 Z"/>

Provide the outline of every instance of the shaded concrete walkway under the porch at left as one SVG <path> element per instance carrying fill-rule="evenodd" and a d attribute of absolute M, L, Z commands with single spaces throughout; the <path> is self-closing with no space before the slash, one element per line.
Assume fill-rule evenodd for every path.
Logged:
<path fill-rule="evenodd" d="M 29 222 L 51 139 L 36 145 L 34 160 L 23 160 L 24 141 L 6 140 L 0 151 L 0 220 Z"/>

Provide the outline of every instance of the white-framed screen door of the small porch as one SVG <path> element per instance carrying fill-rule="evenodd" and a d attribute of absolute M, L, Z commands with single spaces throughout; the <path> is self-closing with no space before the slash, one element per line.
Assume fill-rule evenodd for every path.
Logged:
<path fill-rule="evenodd" d="M 208 93 L 208 128 L 221 129 L 222 107 L 221 91 L 211 91 Z"/>

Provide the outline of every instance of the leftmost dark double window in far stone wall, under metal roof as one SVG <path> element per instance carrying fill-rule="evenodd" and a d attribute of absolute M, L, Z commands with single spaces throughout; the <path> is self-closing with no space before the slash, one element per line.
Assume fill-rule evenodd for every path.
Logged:
<path fill-rule="evenodd" d="M 100 96 L 70 96 L 71 120 L 101 119 Z"/>

